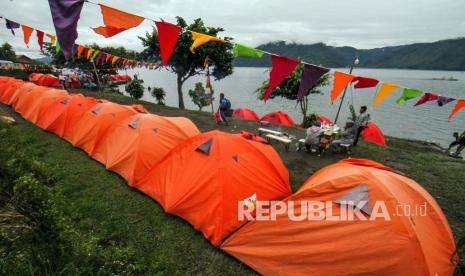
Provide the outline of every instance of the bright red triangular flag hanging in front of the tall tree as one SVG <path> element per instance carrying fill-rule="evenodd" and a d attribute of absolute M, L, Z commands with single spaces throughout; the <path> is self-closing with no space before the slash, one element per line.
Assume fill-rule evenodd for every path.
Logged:
<path fill-rule="evenodd" d="M 176 47 L 182 28 L 178 25 L 160 21 L 156 21 L 155 25 L 157 25 L 158 30 L 161 58 L 163 64 L 167 65 Z"/>

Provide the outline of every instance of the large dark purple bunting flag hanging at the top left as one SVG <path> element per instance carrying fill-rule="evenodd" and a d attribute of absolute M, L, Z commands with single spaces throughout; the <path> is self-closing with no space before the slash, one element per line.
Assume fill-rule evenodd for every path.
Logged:
<path fill-rule="evenodd" d="M 48 0 L 58 44 L 68 61 L 74 56 L 74 42 L 78 36 L 77 23 L 84 0 Z"/>

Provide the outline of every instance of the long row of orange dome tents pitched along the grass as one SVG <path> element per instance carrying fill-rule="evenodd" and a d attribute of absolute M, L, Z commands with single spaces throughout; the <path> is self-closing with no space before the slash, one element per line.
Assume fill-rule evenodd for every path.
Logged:
<path fill-rule="evenodd" d="M 343 160 L 292 194 L 279 155 L 253 135 L 199 133 L 186 118 L 11 78 L 0 77 L 0 101 L 82 148 L 260 274 L 451 275 L 457 265 L 452 232 L 434 198 L 382 164 Z M 264 201 L 272 201 L 268 214 L 292 202 L 294 219 L 289 212 L 239 219 L 240 202 L 258 212 Z M 318 211 L 333 217 L 353 204 L 366 219 L 295 219 L 308 214 L 308 202 L 329 202 Z M 389 219 L 370 219 L 378 203 Z M 399 206 L 425 212 L 399 215 Z"/>

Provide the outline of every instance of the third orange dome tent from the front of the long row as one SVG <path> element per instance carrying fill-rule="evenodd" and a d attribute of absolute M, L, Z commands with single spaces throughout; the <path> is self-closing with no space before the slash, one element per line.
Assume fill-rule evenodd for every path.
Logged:
<path fill-rule="evenodd" d="M 132 186 L 171 149 L 199 133 L 187 118 L 136 114 L 117 122 L 92 157 Z"/>

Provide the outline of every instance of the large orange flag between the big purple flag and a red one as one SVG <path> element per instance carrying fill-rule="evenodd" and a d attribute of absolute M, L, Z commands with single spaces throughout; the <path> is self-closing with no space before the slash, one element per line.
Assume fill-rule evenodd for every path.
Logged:
<path fill-rule="evenodd" d="M 137 27 L 144 21 L 143 17 L 138 15 L 123 12 L 103 4 L 99 4 L 103 15 L 103 23 L 105 26 L 92 28 L 94 32 L 111 37 L 125 30 Z"/>

